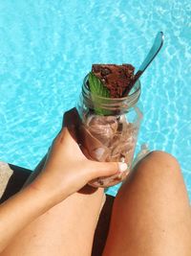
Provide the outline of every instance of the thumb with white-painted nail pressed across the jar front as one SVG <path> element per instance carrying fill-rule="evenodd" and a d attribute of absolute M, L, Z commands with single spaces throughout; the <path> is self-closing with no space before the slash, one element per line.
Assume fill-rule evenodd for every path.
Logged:
<path fill-rule="evenodd" d="M 91 162 L 93 164 L 92 178 L 99 176 L 117 175 L 117 173 L 129 171 L 127 164 L 122 162 Z"/>

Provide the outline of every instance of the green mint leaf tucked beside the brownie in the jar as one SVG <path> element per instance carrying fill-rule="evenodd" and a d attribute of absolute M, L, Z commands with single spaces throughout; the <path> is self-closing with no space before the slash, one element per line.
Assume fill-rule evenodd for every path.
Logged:
<path fill-rule="evenodd" d="M 92 100 L 95 102 L 95 105 L 101 105 L 104 101 L 102 99 L 95 98 L 94 95 L 110 98 L 110 91 L 106 88 L 103 83 L 96 77 L 93 72 L 89 73 L 88 76 L 89 88 L 92 93 Z M 101 107 L 95 106 L 95 112 L 97 115 L 109 115 L 110 111 L 106 109 L 102 109 Z"/>

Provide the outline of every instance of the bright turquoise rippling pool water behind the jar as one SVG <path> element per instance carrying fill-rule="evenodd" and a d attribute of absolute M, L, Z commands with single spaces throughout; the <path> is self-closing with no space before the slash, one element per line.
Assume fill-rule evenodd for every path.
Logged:
<path fill-rule="evenodd" d="M 174 154 L 191 198 L 190 0 L 1 1 L 1 160 L 33 169 L 92 63 L 138 68 L 159 31 L 164 46 L 141 79 L 138 148 Z"/>

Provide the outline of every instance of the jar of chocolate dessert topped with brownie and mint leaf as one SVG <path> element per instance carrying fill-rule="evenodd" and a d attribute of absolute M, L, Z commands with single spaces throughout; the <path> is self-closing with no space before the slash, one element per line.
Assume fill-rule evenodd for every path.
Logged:
<path fill-rule="evenodd" d="M 77 110 L 84 153 L 96 161 L 126 162 L 128 170 L 99 177 L 89 184 L 110 187 L 129 173 L 137 144 L 142 113 L 138 107 L 140 82 L 130 64 L 94 64 L 84 79 Z"/>

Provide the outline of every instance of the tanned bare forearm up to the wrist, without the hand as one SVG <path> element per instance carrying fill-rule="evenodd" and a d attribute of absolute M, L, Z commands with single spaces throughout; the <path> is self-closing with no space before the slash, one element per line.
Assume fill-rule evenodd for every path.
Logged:
<path fill-rule="evenodd" d="M 54 205 L 51 194 L 36 189 L 33 184 L 0 205 L 0 252 L 29 223 Z"/>

